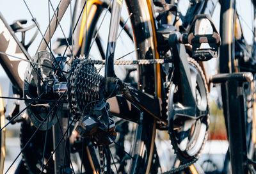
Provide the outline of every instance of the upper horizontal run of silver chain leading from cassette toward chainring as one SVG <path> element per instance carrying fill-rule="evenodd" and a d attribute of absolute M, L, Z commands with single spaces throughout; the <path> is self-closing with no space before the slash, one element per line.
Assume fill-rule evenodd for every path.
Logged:
<path fill-rule="evenodd" d="M 84 57 L 80 57 L 79 59 L 83 59 L 83 63 L 86 65 L 105 65 L 106 60 L 102 59 L 84 59 Z M 172 59 L 136 59 L 136 60 L 114 60 L 114 65 L 150 65 L 150 64 L 163 64 L 170 63 Z"/>

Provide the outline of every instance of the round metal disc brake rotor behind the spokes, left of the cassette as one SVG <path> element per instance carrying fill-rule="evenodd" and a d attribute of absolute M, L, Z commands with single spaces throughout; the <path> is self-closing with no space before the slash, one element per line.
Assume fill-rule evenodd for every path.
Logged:
<path fill-rule="evenodd" d="M 61 113 L 63 104 L 47 101 L 54 100 L 54 98 L 52 95 L 44 94 L 47 78 L 49 78 L 53 70 L 51 54 L 47 51 L 40 51 L 31 61 L 39 65 L 33 65 L 31 63 L 26 68 L 24 76 L 24 98 L 36 100 L 25 100 L 25 104 L 28 106 L 28 115 L 33 125 L 40 127 L 40 130 L 46 130 L 47 128 L 50 129 L 57 122 L 57 118 L 54 115 Z M 47 117 L 49 117 L 49 122 L 45 120 Z"/>

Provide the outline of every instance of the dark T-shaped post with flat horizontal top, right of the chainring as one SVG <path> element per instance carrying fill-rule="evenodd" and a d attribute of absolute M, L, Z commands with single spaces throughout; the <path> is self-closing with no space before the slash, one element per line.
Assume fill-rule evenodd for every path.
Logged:
<path fill-rule="evenodd" d="M 227 93 L 227 132 L 230 145 L 230 159 L 233 165 L 232 173 L 248 173 L 248 159 L 246 147 L 244 93 L 243 83 L 253 80 L 250 72 L 232 74 L 217 74 L 210 78 L 211 83 L 225 84 Z"/>

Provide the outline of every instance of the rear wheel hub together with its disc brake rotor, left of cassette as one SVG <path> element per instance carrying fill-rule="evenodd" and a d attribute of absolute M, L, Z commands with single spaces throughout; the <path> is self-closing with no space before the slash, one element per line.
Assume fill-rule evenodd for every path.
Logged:
<path fill-rule="evenodd" d="M 65 97 L 62 96 L 67 85 L 65 82 L 61 82 L 61 76 L 54 72 L 57 66 L 52 64 L 49 52 L 40 51 L 31 61 L 38 63 L 38 65 L 29 64 L 26 68 L 24 97 L 34 100 L 25 100 L 25 104 L 28 107 L 28 115 L 33 125 L 40 130 L 46 130 L 57 122 L 54 115 L 67 109 L 67 104 L 64 103 Z M 63 99 L 58 102 L 61 96 Z M 49 120 L 46 121 L 45 118 L 49 118 Z"/>

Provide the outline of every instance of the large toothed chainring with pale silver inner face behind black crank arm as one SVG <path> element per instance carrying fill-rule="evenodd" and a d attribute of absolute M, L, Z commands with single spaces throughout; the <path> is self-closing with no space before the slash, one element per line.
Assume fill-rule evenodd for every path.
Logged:
<path fill-rule="evenodd" d="M 197 120 L 172 115 L 173 106 L 180 103 L 177 84 L 173 82 L 170 84 L 167 100 L 167 115 L 170 125 L 169 134 L 175 154 L 177 154 L 182 164 L 190 164 L 198 159 L 207 141 L 209 128 L 208 87 L 204 72 L 194 59 L 189 58 L 188 61 L 191 79 L 193 75 L 196 78 L 194 83 L 192 83 L 192 88 L 196 90 L 196 107 L 205 111 L 206 114 Z"/>

